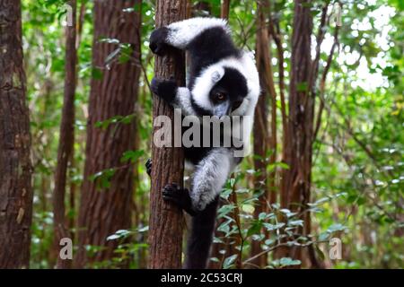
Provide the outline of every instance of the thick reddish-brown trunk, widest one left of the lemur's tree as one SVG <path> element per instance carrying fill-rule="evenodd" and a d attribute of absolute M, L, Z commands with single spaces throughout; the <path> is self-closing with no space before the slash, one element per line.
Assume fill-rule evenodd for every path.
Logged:
<path fill-rule="evenodd" d="M 134 8 L 134 11 L 123 11 Z M 97 123 L 111 117 L 127 117 L 135 112 L 139 80 L 141 0 L 96 1 L 94 3 L 94 40 L 92 66 L 100 69 L 106 58 L 115 53 L 118 45 L 100 41 L 119 39 L 132 48 L 130 60 L 119 63 L 110 59 L 102 68 L 101 79 L 93 78 L 87 123 L 86 161 L 78 220 L 79 250 L 76 266 L 100 262 L 113 257 L 116 241 L 107 237 L 117 230 L 130 227 L 130 208 L 133 194 L 133 167 L 120 159 L 132 150 L 135 123 L 118 122 L 107 127 Z M 112 170 L 113 174 L 102 174 Z M 101 172 L 101 175 L 100 175 Z M 99 173 L 99 177 L 94 175 Z M 105 178 L 106 177 L 106 178 Z M 88 257 L 85 246 L 103 247 Z"/>

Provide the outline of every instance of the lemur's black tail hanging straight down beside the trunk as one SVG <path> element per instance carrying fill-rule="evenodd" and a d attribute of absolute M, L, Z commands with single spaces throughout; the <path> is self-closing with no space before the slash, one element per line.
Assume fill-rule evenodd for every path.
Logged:
<path fill-rule="evenodd" d="M 204 211 L 192 217 L 192 226 L 188 239 L 185 269 L 206 268 L 207 258 L 212 245 L 215 219 L 219 197 L 207 204 Z"/>

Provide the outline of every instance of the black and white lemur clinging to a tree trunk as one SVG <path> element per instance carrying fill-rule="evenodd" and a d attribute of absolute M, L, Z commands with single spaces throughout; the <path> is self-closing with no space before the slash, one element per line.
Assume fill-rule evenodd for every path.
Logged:
<path fill-rule="evenodd" d="M 259 74 L 251 53 L 234 47 L 227 22 L 192 18 L 154 30 L 150 37 L 154 54 L 162 56 L 169 46 L 189 52 L 187 87 L 154 78 L 152 91 L 185 115 L 249 116 L 243 135 L 250 135 L 259 98 Z M 244 136 L 244 141 L 249 141 L 249 136 Z M 184 267 L 205 268 L 219 194 L 241 158 L 234 156 L 232 147 L 184 147 L 184 151 L 187 163 L 195 168 L 190 190 L 169 184 L 162 197 L 192 216 Z M 151 161 L 146 167 L 150 174 Z"/>

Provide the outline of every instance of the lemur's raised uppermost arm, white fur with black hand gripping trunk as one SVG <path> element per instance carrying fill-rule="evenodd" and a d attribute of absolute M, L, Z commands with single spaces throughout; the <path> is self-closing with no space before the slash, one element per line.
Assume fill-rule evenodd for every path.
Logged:
<path fill-rule="evenodd" d="M 226 22 L 223 19 L 191 18 L 174 22 L 153 31 L 150 36 L 150 48 L 157 55 L 164 54 L 164 49 L 167 46 L 185 49 L 203 31 L 214 27 L 228 30 Z"/>

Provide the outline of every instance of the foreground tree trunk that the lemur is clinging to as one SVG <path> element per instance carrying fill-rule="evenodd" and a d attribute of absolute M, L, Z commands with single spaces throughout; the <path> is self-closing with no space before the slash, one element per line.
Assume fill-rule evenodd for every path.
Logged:
<path fill-rule="evenodd" d="M 157 0 L 156 27 L 178 22 L 187 14 L 186 0 Z M 181 86 L 185 83 L 184 55 L 171 50 L 168 56 L 156 57 L 156 77 L 165 79 L 174 76 Z M 173 109 L 153 96 L 153 117 L 165 115 L 173 123 Z M 173 125 L 171 125 L 173 126 Z M 174 127 L 175 128 L 175 127 Z M 172 128 L 172 130 L 174 129 Z M 155 131 L 155 130 L 154 130 Z M 177 132 L 179 132 L 177 130 Z M 173 139 L 174 136 L 171 136 Z M 149 268 L 180 268 L 182 248 L 182 211 L 162 200 L 162 187 L 168 183 L 183 183 L 184 156 L 182 148 L 152 146 L 152 188 L 150 195 Z"/>

